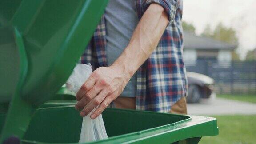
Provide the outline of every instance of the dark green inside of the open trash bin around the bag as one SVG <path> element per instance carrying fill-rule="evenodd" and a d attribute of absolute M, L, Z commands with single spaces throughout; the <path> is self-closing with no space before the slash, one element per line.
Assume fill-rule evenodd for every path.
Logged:
<path fill-rule="evenodd" d="M 0 129 L 5 114 L 0 114 Z M 172 124 L 189 116 L 140 112 L 108 108 L 103 112 L 108 137 Z M 42 108 L 36 111 L 24 140 L 46 143 L 75 143 L 79 141 L 82 118 L 73 106 Z"/>

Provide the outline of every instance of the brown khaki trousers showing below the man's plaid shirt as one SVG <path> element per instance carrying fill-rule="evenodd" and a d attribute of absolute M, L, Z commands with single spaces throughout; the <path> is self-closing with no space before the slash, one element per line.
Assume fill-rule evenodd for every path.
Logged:
<path fill-rule="evenodd" d="M 135 97 L 118 97 L 114 100 L 115 108 L 122 109 L 135 109 L 136 98 Z M 187 114 L 187 102 L 186 98 L 182 97 L 179 101 L 172 105 L 170 113 Z"/>

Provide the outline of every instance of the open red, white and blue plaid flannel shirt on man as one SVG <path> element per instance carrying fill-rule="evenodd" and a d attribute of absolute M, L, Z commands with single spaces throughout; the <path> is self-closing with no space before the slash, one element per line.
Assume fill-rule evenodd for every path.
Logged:
<path fill-rule="evenodd" d="M 183 61 L 182 0 L 135 0 L 139 19 L 152 3 L 160 4 L 168 14 L 169 24 L 155 51 L 137 71 L 136 109 L 169 112 L 187 92 Z M 81 63 L 91 63 L 92 69 L 107 66 L 106 28 L 102 16 L 88 44 Z"/>

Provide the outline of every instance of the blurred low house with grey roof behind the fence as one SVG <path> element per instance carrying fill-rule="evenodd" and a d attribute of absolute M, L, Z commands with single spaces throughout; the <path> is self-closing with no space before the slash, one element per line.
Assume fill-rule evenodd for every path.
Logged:
<path fill-rule="evenodd" d="M 229 65 L 232 51 L 236 45 L 208 37 L 196 36 L 192 32 L 184 31 L 184 63 L 187 66 L 196 65 L 198 61 L 211 61 Z"/>

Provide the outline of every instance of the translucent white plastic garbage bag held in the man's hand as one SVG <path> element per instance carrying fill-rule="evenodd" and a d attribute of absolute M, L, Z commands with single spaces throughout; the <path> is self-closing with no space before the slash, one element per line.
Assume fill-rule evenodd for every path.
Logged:
<path fill-rule="evenodd" d="M 91 64 L 77 64 L 71 76 L 68 78 L 67 88 L 77 93 L 91 73 Z M 90 117 L 92 112 L 83 118 L 79 143 L 108 138 L 101 114 L 93 120 Z"/>

